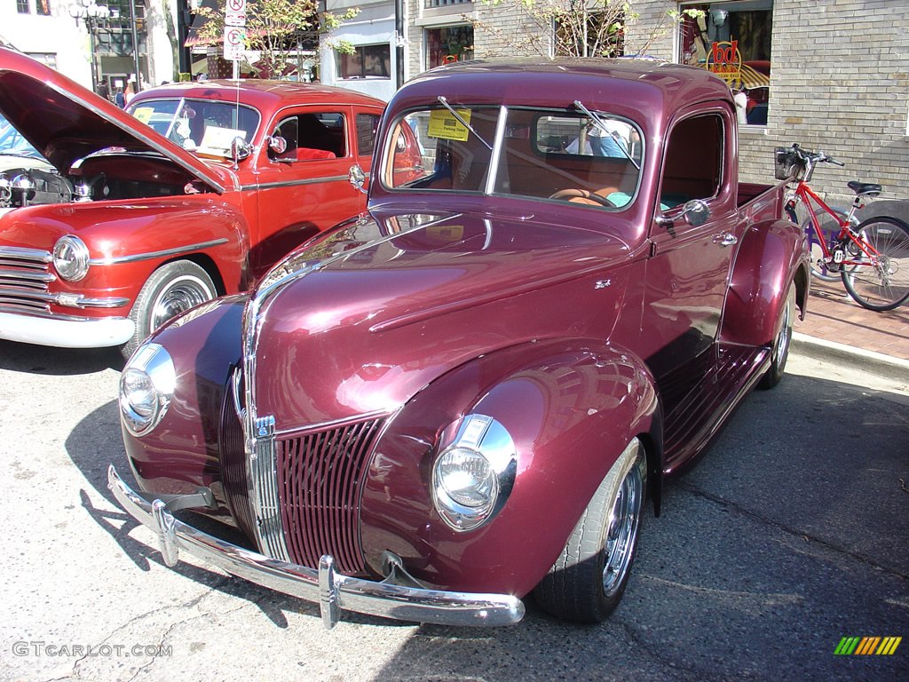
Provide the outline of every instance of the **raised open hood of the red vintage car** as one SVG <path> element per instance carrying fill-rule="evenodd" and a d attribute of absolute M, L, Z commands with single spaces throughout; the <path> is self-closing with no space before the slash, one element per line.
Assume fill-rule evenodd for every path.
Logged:
<path fill-rule="evenodd" d="M 212 166 L 105 98 L 5 48 L 0 48 L 0 112 L 64 175 L 86 155 L 123 147 L 164 155 L 215 192 L 225 191 Z"/>

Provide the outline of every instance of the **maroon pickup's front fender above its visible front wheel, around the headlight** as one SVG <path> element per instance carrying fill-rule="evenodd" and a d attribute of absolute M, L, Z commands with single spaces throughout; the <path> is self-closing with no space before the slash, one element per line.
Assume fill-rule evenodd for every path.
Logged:
<path fill-rule="evenodd" d="M 458 532 L 435 511 L 430 486 L 439 437 L 471 413 L 509 431 L 517 471 L 501 512 Z M 644 435 L 659 444 L 659 428 L 653 376 L 630 352 L 558 340 L 476 358 L 427 386 L 380 438 L 362 505 L 367 562 L 380 572 L 390 551 L 428 584 L 523 596 L 552 566 L 628 442 Z"/>

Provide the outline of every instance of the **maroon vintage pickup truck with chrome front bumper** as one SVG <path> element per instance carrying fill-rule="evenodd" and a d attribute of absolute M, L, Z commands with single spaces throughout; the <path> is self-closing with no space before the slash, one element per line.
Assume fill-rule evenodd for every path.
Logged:
<path fill-rule="evenodd" d="M 664 478 L 780 381 L 804 315 L 804 234 L 783 185 L 737 181 L 736 141 L 729 89 L 692 67 L 417 77 L 384 115 L 368 215 L 133 356 L 141 492 L 112 466 L 116 498 L 168 564 L 317 601 L 328 626 L 503 625 L 531 595 L 603 619 L 646 498 L 658 512 Z"/>

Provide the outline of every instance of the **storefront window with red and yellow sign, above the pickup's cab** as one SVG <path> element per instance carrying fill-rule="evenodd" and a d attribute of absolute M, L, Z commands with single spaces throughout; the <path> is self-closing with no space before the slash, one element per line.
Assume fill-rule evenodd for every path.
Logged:
<path fill-rule="evenodd" d="M 773 0 L 682 3 L 681 9 L 704 14 L 684 16 L 678 60 L 710 69 L 744 94 L 737 99 L 744 109 L 739 112 L 740 123 L 766 125 Z"/>

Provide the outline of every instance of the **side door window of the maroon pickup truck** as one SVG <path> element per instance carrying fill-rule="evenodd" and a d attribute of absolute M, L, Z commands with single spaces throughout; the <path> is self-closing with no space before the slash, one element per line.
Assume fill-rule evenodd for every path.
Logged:
<path fill-rule="evenodd" d="M 686 118 L 673 128 L 663 166 L 660 207 L 710 199 L 723 179 L 723 119 L 716 114 Z"/>

